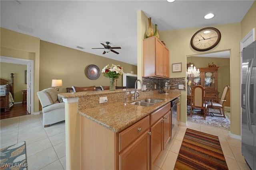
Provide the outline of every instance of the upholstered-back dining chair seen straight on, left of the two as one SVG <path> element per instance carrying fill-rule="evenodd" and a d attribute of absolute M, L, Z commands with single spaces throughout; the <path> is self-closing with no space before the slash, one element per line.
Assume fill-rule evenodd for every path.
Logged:
<path fill-rule="evenodd" d="M 201 109 L 201 113 L 202 111 L 204 112 L 204 114 L 200 115 L 200 116 L 204 116 L 204 120 L 206 118 L 206 113 L 207 113 L 207 109 L 208 109 L 208 105 L 206 104 L 206 89 L 203 86 L 194 86 L 192 88 L 192 92 L 191 92 L 191 117 L 192 115 L 200 115 L 200 114 L 195 114 L 193 113 L 193 109 Z"/>

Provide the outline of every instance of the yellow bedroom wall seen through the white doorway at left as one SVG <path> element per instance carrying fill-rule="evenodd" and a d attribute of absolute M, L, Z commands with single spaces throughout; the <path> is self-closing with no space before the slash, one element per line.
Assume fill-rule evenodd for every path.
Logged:
<path fill-rule="evenodd" d="M 24 76 L 26 69 L 27 66 L 24 64 L 0 63 L 2 79 L 9 80 L 10 83 L 10 73 L 14 74 L 14 102 L 22 102 L 23 100 L 22 90 L 27 88 Z"/>

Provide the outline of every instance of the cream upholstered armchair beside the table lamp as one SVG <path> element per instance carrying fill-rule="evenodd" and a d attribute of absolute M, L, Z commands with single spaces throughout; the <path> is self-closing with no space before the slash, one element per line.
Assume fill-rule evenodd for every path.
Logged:
<path fill-rule="evenodd" d="M 37 92 L 42 105 L 44 127 L 65 120 L 65 103 L 58 98 L 55 88 L 47 88 Z"/>

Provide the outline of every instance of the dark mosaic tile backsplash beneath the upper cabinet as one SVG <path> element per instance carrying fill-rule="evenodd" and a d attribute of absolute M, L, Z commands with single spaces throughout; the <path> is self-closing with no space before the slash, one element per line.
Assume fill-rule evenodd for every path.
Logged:
<path fill-rule="evenodd" d="M 185 90 L 185 77 L 168 79 L 142 77 L 142 83 L 146 85 L 147 90 L 158 90 L 164 86 L 165 82 L 169 83 L 170 90 Z M 183 89 L 179 89 L 179 85 L 183 85 Z"/>

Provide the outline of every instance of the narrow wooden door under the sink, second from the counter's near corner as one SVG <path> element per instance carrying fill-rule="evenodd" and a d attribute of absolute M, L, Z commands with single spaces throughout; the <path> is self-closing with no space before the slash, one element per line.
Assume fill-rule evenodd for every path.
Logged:
<path fill-rule="evenodd" d="M 163 150 L 163 119 L 158 120 L 150 131 L 150 166 L 153 167 Z"/>

